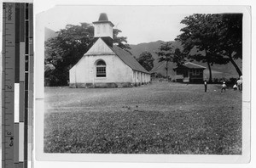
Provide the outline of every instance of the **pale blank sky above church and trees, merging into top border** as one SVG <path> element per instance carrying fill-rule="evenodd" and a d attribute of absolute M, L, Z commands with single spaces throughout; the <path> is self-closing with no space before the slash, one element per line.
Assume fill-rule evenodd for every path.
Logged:
<path fill-rule="evenodd" d="M 195 13 L 223 13 L 231 7 L 207 8 L 173 5 L 61 5 L 44 11 L 47 18 L 45 26 L 54 31 L 65 28 L 67 24 L 79 25 L 81 22 L 97 21 L 101 13 L 108 14 L 108 20 L 122 31 L 119 36 L 127 36 L 129 44 L 142 42 L 173 41 L 181 34 L 181 20 Z M 42 23 L 41 20 L 38 20 Z"/>

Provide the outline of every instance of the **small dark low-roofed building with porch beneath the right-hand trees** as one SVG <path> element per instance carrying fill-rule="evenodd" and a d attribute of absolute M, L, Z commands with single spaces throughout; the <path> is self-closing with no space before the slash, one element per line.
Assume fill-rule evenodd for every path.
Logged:
<path fill-rule="evenodd" d="M 207 68 L 191 62 L 182 64 L 173 70 L 175 71 L 175 81 L 200 83 L 204 80 L 204 70 Z"/>

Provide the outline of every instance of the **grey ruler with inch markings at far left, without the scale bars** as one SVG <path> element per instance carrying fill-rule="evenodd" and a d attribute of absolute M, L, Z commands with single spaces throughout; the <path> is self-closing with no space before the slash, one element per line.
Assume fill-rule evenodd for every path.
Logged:
<path fill-rule="evenodd" d="M 14 167 L 15 104 L 15 3 L 3 3 L 3 160 Z M 9 114 L 9 115 L 7 115 Z"/>

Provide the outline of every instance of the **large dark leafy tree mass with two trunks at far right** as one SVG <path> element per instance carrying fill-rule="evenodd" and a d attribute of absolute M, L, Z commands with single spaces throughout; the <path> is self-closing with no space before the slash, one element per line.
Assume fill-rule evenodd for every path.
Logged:
<path fill-rule="evenodd" d="M 231 62 L 236 70 L 238 68 L 233 59 L 240 53 L 241 20 L 236 14 L 225 15 L 193 14 L 185 17 L 181 23 L 186 26 L 181 29 L 183 33 L 177 36 L 190 60 L 207 63 L 209 81 L 212 81 L 212 64 Z M 240 74 L 239 68 L 237 72 Z"/>

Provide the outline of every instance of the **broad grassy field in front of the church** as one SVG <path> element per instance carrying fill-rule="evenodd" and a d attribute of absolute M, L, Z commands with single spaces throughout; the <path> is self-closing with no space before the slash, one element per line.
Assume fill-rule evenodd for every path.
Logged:
<path fill-rule="evenodd" d="M 241 92 L 152 83 L 45 88 L 44 152 L 241 154 Z"/>

